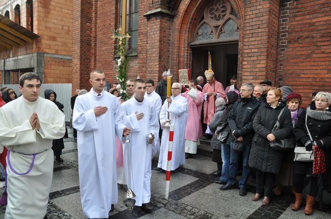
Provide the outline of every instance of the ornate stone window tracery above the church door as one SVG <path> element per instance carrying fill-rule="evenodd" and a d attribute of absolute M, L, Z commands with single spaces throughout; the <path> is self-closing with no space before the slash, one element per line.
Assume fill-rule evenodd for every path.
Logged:
<path fill-rule="evenodd" d="M 194 36 L 195 42 L 201 43 L 239 37 L 238 18 L 229 0 L 214 0 L 206 5 Z"/>

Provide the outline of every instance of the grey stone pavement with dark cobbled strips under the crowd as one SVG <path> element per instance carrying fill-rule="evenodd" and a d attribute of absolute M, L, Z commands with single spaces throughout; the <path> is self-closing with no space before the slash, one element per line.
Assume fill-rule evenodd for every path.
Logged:
<path fill-rule="evenodd" d="M 63 163 L 54 162 L 51 193 L 47 207 L 48 218 L 86 218 L 81 210 L 77 144 L 72 138 L 72 129 L 68 129 L 69 138 L 65 139 Z M 157 155 L 152 167 L 157 164 Z M 128 210 L 123 204 L 123 187 L 119 185 L 119 200 L 109 218 L 331 218 L 331 194 L 324 191 L 322 209 L 314 205 L 314 214 L 307 216 L 303 208 L 292 211 L 294 200 L 290 188 L 285 187 L 282 195 L 274 196 L 269 206 L 261 201 L 253 202 L 254 179 L 249 179 L 249 193 L 241 197 L 239 190 L 220 191 L 211 175 L 216 170 L 211 158 L 195 155 L 187 159 L 185 165 L 171 173 L 169 199 L 164 199 L 165 172 L 152 170 L 151 203 L 152 213 L 145 213 L 140 207 Z M 309 185 L 308 182 L 306 183 Z M 307 190 L 307 187 L 306 187 Z M 1 194 L 3 189 L 0 190 Z M 6 206 L 0 206 L 0 218 L 4 217 Z"/>

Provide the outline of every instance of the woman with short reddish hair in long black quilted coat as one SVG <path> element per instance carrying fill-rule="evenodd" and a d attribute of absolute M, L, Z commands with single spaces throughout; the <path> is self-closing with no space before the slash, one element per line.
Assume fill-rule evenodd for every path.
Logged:
<path fill-rule="evenodd" d="M 270 87 L 266 103 L 261 105 L 253 121 L 255 136 L 252 142 L 249 165 L 256 169 L 256 194 L 252 198 L 258 201 L 264 189 L 263 205 L 268 205 L 276 174 L 281 170 L 283 151 L 270 148 L 270 141 L 284 139 L 292 135 L 292 119 L 289 109 L 282 102 L 283 91 L 277 87 Z M 281 129 L 271 132 L 278 115 L 284 109 L 280 124 Z"/>

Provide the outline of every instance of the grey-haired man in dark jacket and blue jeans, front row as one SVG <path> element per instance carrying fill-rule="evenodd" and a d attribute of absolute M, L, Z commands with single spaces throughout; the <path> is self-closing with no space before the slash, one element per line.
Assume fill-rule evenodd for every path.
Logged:
<path fill-rule="evenodd" d="M 260 107 L 260 103 L 253 97 L 254 86 L 252 83 L 244 83 L 240 87 L 240 96 L 237 102 L 234 103 L 232 110 L 230 111 L 228 121 L 232 132 L 230 139 L 230 168 L 229 179 L 227 184 L 219 187 L 220 190 L 229 190 L 235 188 L 237 182 L 237 170 L 238 170 L 238 158 L 242 153 L 242 176 L 239 181 L 239 195 L 245 196 L 247 191 L 245 185 L 247 178 L 250 174 L 250 168 L 248 165 L 251 144 L 254 136 L 253 120 Z M 237 152 L 233 149 L 233 142 L 236 139 L 238 142 L 243 142 L 244 147 L 242 152 Z"/>

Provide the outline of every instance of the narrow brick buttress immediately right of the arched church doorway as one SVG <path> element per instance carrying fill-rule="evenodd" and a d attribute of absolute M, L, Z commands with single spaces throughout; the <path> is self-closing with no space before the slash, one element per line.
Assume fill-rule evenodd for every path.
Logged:
<path fill-rule="evenodd" d="M 279 1 L 244 2 L 241 82 L 274 84 Z"/>

